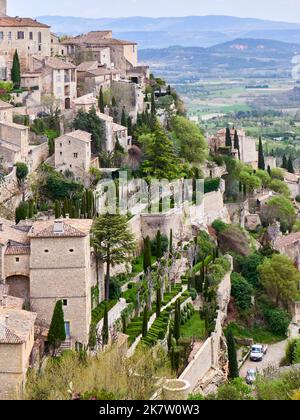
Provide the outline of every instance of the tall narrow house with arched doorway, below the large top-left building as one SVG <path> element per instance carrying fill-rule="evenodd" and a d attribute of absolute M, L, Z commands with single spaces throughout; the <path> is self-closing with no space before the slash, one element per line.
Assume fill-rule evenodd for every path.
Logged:
<path fill-rule="evenodd" d="M 41 94 L 52 96 L 62 109 L 70 109 L 77 97 L 77 75 L 74 64 L 56 57 L 32 59 L 32 71 L 41 74 Z"/>

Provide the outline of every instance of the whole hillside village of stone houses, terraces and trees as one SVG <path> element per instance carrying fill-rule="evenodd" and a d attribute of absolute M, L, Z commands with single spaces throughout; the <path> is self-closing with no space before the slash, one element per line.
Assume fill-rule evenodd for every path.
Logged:
<path fill-rule="evenodd" d="M 257 331 L 300 363 L 292 160 L 242 127 L 206 136 L 136 43 L 110 30 L 58 37 L 6 8 L 0 399 L 216 396 Z M 137 180 L 153 179 L 164 185 L 136 200 Z M 131 203 L 124 214 L 108 212 L 110 182 Z"/>

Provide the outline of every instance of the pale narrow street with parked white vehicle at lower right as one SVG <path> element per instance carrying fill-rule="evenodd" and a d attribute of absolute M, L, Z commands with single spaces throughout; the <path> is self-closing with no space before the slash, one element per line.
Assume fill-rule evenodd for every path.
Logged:
<path fill-rule="evenodd" d="M 245 378 L 249 369 L 257 369 L 259 372 L 262 372 L 268 367 L 279 367 L 280 362 L 284 357 L 286 346 L 287 340 L 271 344 L 262 362 L 251 362 L 251 360 L 248 359 L 240 371 L 240 376 Z"/>

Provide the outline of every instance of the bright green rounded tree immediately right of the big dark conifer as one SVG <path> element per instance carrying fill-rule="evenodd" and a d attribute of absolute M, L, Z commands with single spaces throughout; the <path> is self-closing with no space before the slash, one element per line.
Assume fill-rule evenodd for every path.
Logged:
<path fill-rule="evenodd" d="M 171 126 L 180 156 L 188 162 L 203 163 L 207 157 L 208 149 L 200 128 L 181 116 L 173 118 Z"/>

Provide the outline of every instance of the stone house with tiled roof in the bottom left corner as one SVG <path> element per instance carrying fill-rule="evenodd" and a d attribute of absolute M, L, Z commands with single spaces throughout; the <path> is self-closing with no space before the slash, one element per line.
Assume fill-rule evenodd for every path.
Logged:
<path fill-rule="evenodd" d="M 0 399 L 22 396 L 34 345 L 36 314 L 0 306 Z"/>

